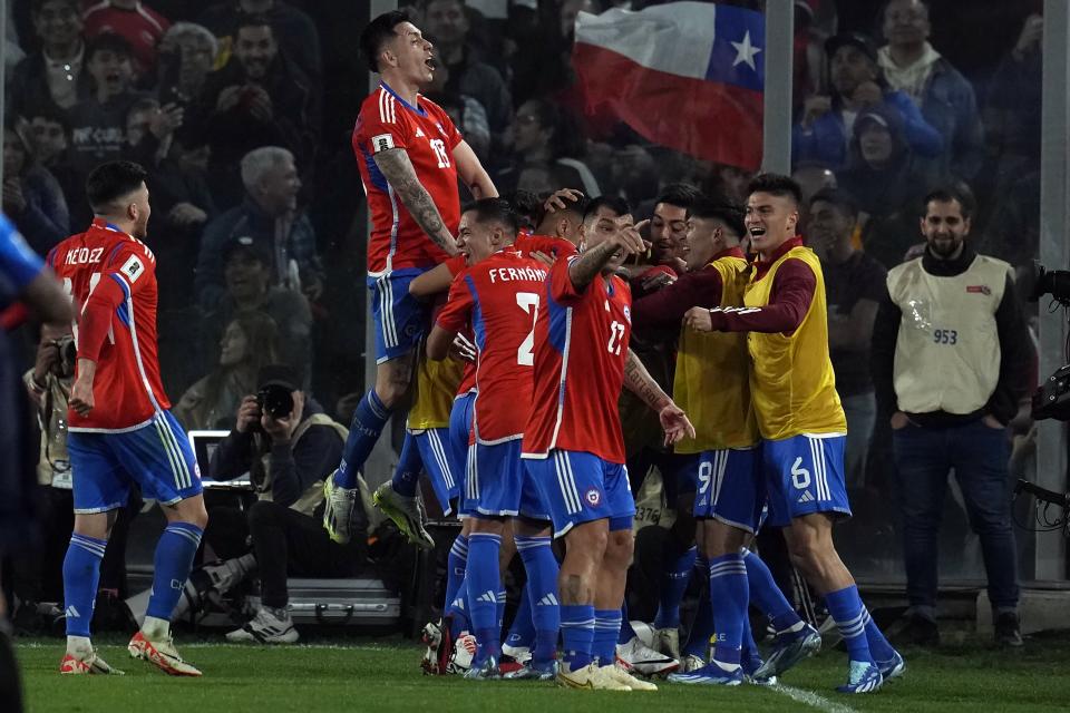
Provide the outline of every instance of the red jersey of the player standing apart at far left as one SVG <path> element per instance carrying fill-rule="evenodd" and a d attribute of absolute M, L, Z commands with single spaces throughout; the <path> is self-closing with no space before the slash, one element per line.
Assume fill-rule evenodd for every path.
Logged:
<path fill-rule="evenodd" d="M 171 408 L 156 351 L 156 257 L 96 218 L 52 248 L 48 264 L 74 300 L 79 359 L 97 363 L 94 409 L 71 409 L 71 431 L 126 431 Z"/>

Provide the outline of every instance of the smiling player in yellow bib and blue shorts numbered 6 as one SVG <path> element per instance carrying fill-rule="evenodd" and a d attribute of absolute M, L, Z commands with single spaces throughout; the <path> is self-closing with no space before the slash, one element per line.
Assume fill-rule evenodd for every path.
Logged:
<path fill-rule="evenodd" d="M 699 331 L 749 332 L 750 393 L 762 437 L 769 524 L 784 528 L 791 559 L 825 597 L 847 645 L 843 693 L 868 693 L 903 672 L 903 658 L 869 617 L 833 543 L 833 524 L 850 515 L 844 484 L 847 422 L 828 356 L 825 281 L 797 235 L 801 189 L 762 174 L 749 186 L 747 231 L 758 260 L 742 304 L 694 307 Z M 777 636 L 759 675 L 782 672 L 797 636 Z"/>

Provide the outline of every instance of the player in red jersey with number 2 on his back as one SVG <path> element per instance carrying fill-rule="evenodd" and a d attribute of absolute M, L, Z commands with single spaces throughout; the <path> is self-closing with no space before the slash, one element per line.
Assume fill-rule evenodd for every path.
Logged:
<path fill-rule="evenodd" d="M 446 356 L 469 323 L 476 344 L 476 399 L 460 511 L 470 522 L 466 579 L 479 651 L 467 674 L 499 677 L 498 568 L 502 537 L 513 518 L 516 547 L 528 576 L 538 632 L 533 677 L 552 678 L 557 644 L 557 561 L 538 492 L 521 462 L 521 439 L 532 394 L 535 319 L 546 281 L 545 263 L 514 247 L 516 214 L 497 198 L 465 212 L 458 242 L 470 266 L 454 281 L 449 301 L 428 338 L 427 353 Z"/>

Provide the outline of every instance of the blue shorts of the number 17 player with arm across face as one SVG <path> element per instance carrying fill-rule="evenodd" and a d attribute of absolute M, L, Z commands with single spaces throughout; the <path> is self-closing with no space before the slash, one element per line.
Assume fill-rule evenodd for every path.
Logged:
<path fill-rule="evenodd" d="M 524 465 L 549 510 L 554 537 L 604 518 L 610 520 L 610 529 L 625 529 L 625 525 L 631 529 L 635 500 L 623 463 L 555 448 L 546 458 L 525 458 Z"/>

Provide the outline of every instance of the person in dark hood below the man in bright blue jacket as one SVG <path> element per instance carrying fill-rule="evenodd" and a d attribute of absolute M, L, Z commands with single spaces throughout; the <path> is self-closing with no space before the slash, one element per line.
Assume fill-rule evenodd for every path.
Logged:
<path fill-rule="evenodd" d="M 894 109 L 876 106 L 855 119 L 848 166 L 837 184 L 865 214 L 865 250 L 885 267 L 897 265 L 916 242 L 909 216 L 928 182 L 913 162 Z"/>

